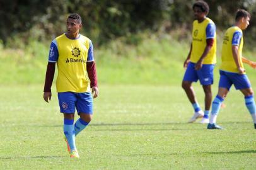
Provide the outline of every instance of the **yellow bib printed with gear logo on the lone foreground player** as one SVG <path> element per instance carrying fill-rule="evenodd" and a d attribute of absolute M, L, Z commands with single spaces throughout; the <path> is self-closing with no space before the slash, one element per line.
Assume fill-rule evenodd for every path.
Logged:
<path fill-rule="evenodd" d="M 78 39 L 71 40 L 62 34 L 55 40 L 59 52 L 57 92 L 89 92 L 90 82 L 86 71 L 86 61 L 90 39 L 80 35 Z"/>

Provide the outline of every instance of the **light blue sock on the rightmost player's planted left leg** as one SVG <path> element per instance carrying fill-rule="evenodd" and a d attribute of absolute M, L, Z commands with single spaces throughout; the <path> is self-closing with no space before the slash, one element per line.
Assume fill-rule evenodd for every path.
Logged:
<path fill-rule="evenodd" d="M 212 101 L 212 111 L 209 123 L 213 124 L 216 123 L 217 115 L 219 114 L 219 110 L 221 108 L 221 103 L 223 102 L 223 98 L 221 96 L 216 96 Z"/>

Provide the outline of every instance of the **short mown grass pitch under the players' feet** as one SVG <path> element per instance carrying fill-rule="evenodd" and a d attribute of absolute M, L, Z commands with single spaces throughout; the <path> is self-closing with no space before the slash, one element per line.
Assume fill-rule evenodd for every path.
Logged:
<path fill-rule="evenodd" d="M 100 85 L 93 121 L 76 138 L 80 159 L 67 154 L 56 94 L 45 103 L 42 89 L 0 86 L 0 169 L 256 167 L 256 130 L 234 89 L 218 117 L 226 130 L 207 130 L 186 123 L 192 108 L 180 86 Z"/>

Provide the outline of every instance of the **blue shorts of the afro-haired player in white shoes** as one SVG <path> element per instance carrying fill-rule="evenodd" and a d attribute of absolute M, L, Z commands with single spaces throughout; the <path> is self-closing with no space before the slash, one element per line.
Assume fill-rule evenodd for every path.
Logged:
<path fill-rule="evenodd" d="M 197 82 L 198 79 L 202 85 L 213 84 L 213 69 L 214 64 L 203 64 L 199 71 L 195 70 L 195 64 L 189 62 L 183 81 Z"/>

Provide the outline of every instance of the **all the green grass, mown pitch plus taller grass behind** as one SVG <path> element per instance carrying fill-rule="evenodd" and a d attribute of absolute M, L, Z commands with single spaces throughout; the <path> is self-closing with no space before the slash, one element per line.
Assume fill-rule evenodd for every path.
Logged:
<path fill-rule="evenodd" d="M 186 123 L 193 111 L 180 84 L 189 42 L 147 36 L 135 45 L 120 38 L 95 47 L 100 96 L 74 160 L 56 93 L 50 103 L 42 98 L 49 44 L 0 45 L 0 169 L 255 169 L 256 135 L 242 94 L 232 89 L 224 101 L 218 122 L 226 130 Z M 253 52 L 244 54 L 254 60 Z M 213 96 L 218 66 L 219 57 Z M 255 71 L 246 69 L 255 88 Z M 202 106 L 198 83 L 195 91 Z"/>

